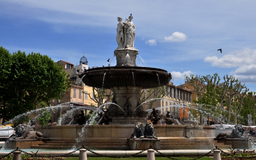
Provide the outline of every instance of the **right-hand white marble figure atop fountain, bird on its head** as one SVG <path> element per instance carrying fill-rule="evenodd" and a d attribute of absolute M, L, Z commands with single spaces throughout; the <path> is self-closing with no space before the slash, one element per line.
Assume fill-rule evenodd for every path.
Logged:
<path fill-rule="evenodd" d="M 124 46 L 134 47 L 135 41 L 135 26 L 132 22 L 132 14 L 123 22 L 124 24 Z"/>

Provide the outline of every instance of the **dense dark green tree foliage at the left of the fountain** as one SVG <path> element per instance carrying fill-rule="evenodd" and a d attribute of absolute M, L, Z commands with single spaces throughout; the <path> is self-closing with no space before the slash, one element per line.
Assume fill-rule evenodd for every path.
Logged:
<path fill-rule="evenodd" d="M 40 102 L 60 99 L 70 87 L 66 72 L 46 55 L 0 48 L 0 117 L 3 122 L 36 108 Z"/>

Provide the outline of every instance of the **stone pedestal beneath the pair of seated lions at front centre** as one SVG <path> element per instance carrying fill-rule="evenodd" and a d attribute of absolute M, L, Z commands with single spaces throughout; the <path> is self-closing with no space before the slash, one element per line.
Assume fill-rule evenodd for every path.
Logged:
<path fill-rule="evenodd" d="M 128 140 L 130 150 L 135 151 L 141 151 L 145 150 L 146 148 L 150 148 L 150 145 L 152 145 L 152 148 L 155 148 L 157 150 L 160 150 L 160 139 L 149 139 L 149 138 L 143 138 L 143 139 L 129 139 Z"/>

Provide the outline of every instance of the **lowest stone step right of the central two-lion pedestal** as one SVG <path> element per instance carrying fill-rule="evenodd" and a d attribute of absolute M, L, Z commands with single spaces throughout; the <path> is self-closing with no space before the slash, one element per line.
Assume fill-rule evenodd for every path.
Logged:
<path fill-rule="evenodd" d="M 197 145 L 196 147 L 194 145 L 177 145 L 177 146 L 162 146 L 161 150 L 192 150 L 192 149 L 205 149 L 205 150 L 212 150 L 215 147 L 215 145 Z M 218 148 L 220 149 L 227 149 L 228 147 L 232 147 L 232 145 L 218 145 Z"/>

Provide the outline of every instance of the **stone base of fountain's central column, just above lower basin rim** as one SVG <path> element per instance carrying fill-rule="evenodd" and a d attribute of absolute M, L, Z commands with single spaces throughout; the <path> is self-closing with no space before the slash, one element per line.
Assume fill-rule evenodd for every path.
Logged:
<path fill-rule="evenodd" d="M 145 125 L 147 123 L 147 119 L 144 117 L 113 117 L 112 122 L 109 122 L 110 125 L 135 125 L 136 123 L 142 123 Z"/>

